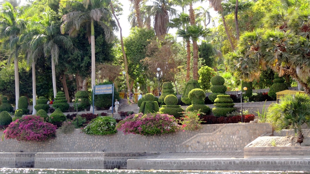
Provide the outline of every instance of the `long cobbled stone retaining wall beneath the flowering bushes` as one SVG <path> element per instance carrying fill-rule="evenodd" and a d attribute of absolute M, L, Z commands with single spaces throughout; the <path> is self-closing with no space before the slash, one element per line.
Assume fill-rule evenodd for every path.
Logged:
<path fill-rule="evenodd" d="M 81 133 L 79 129 L 75 129 L 71 134 L 61 134 L 57 131 L 56 138 L 44 142 L 19 142 L 12 139 L 0 141 L 0 151 L 22 150 L 36 153 L 243 151 L 244 146 L 263 133 L 272 133 L 272 127 L 268 123 L 210 124 L 202 127 L 198 131 L 177 131 L 161 136 L 124 135 L 122 132 L 91 136 Z M 221 130 L 218 130 L 219 128 Z M 198 137 L 197 134 L 199 134 Z M 200 142 L 197 143 L 197 141 Z M 208 146 L 208 143 L 211 146 Z"/>

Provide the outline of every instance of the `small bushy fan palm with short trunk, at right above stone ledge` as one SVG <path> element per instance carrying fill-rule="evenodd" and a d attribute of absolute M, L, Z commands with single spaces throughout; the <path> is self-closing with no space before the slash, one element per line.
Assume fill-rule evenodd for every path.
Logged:
<path fill-rule="evenodd" d="M 286 95 L 281 102 L 272 103 L 268 108 L 267 120 L 276 132 L 282 129 L 293 129 L 299 144 L 303 142 L 302 125 L 310 127 L 310 97 L 308 94 L 297 93 Z"/>

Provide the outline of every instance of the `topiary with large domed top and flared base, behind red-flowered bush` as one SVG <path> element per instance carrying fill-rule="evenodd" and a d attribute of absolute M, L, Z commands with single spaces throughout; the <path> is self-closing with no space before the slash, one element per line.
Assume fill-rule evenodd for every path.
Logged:
<path fill-rule="evenodd" d="M 186 111 L 199 111 L 204 114 L 210 113 L 210 107 L 204 104 L 206 94 L 202 89 L 193 89 L 189 92 L 188 98 L 192 101 L 192 105 L 186 108 Z"/>

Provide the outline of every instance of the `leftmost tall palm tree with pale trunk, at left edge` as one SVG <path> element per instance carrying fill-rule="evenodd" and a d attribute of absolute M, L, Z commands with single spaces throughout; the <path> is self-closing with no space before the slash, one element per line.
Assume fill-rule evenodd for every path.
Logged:
<path fill-rule="evenodd" d="M 1 46 L 10 51 L 9 63 L 14 59 L 15 74 L 15 107 L 18 109 L 19 75 L 18 55 L 20 52 L 20 34 L 24 31 L 26 24 L 22 19 L 23 9 L 17 11 L 10 2 L 4 2 L 0 12 L 0 41 Z"/>

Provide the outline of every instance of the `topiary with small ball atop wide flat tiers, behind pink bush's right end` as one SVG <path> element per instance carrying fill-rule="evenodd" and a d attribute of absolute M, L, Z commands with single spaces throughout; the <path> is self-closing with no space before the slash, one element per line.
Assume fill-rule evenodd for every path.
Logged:
<path fill-rule="evenodd" d="M 173 115 L 175 118 L 181 117 L 182 113 L 180 112 L 183 112 L 184 109 L 181 108 L 181 105 L 176 105 L 178 104 L 178 98 L 176 98 L 175 95 L 167 95 L 164 102 L 166 105 L 162 105 L 162 108 L 159 109 L 159 113 Z"/>

